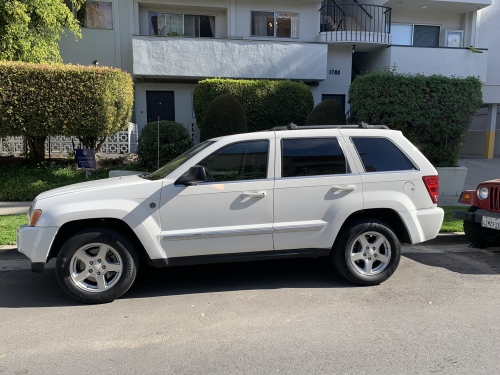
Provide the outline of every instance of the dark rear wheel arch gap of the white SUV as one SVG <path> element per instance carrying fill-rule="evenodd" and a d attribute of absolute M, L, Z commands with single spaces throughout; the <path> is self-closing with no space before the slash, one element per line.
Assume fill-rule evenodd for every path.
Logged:
<path fill-rule="evenodd" d="M 341 233 L 353 223 L 364 219 L 377 219 L 386 223 L 396 234 L 401 243 L 411 243 L 411 236 L 403 219 L 399 214 L 390 208 L 370 208 L 353 212 L 342 224 L 334 242 L 338 241 Z"/>

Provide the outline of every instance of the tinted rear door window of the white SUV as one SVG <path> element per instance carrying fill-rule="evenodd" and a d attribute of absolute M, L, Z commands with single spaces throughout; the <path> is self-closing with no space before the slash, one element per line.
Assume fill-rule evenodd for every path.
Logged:
<path fill-rule="evenodd" d="M 281 176 L 322 176 L 346 173 L 344 153 L 336 138 L 283 139 Z"/>

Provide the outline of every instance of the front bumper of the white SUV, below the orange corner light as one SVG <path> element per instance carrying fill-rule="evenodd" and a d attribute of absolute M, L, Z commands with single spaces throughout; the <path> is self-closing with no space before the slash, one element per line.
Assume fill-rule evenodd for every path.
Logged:
<path fill-rule="evenodd" d="M 35 272 L 43 271 L 47 263 L 50 247 L 59 227 L 30 227 L 21 225 L 17 229 L 17 250 L 31 260 L 31 268 Z"/>

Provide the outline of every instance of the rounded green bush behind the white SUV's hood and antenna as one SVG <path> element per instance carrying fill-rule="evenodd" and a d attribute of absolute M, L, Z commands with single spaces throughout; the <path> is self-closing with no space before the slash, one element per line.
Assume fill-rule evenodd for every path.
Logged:
<path fill-rule="evenodd" d="M 186 128 L 174 121 L 160 121 L 160 166 L 193 147 Z M 141 131 L 137 144 L 139 165 L 154 171 L 158 165 L 158 121 L 150 122 Z"/>

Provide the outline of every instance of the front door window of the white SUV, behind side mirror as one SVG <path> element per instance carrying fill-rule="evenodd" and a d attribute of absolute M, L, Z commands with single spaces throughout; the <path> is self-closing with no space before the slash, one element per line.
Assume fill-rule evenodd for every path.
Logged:
<path fill-rule="evenodd" d="M 267 178 L 269 141 L 233 143 L 203 160 L 207 182 L 259 180 Z"/>

